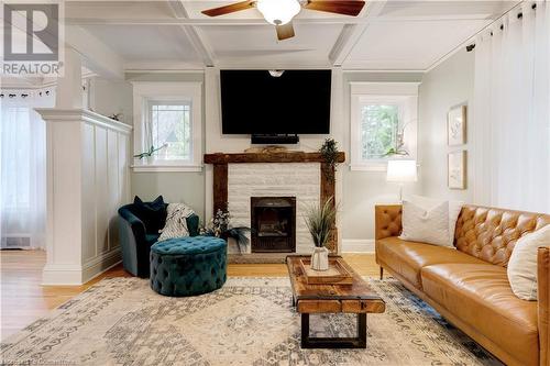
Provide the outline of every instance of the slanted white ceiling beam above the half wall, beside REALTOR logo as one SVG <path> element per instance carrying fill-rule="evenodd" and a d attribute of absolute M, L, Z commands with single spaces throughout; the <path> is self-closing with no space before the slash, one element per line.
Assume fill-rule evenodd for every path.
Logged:
<path fill-rule="evenodd" d="M 66 25 L 65 43 L 76 49 L 84 65 L 107 78 L 124 78 L 124 60 L 114 51 L 80 26 Z"/>

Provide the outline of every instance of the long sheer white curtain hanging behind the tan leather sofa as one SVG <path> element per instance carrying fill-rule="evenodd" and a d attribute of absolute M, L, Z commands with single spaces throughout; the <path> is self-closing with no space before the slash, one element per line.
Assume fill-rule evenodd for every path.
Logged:
<path fill-rule="evenodd" d="M 549 53 L 548 1 L 522 3 L 475 42 L 477 204 L 550 212 Z"/>

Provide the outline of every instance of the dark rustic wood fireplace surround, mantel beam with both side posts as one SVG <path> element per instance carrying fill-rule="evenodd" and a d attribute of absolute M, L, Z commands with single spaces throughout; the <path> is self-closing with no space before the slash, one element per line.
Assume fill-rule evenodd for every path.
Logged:
<path fill-rule="evenodd" d="M 338 163 L 345 162 L 345 154 L 338 153 Z M 205 154 L 205 164 L 213 165 L 213 212 L 224 210 L 228 204 L 228 165 L 254 163 L 319 163 L 320 166 L 320 202 L 334 197 L 334 168 L 326 163 L 320 153 L 286 152 L 286 153 L 235 153 L 235 154 Z M 338 252 L 337 229 L 332 233 L 329 244 L 332 252 Z"/>

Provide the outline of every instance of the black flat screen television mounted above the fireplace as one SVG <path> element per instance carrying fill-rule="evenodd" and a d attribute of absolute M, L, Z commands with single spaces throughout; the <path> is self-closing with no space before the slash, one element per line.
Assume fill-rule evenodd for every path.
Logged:
<path fill-rule="evenodd" d="M 330 70 L 221 70 L 222 133 L 328 134 L 331 81 Z"/>

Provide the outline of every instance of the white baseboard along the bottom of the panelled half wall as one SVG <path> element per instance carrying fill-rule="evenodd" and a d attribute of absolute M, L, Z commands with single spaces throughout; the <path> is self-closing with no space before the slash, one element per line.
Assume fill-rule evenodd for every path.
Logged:
<path fill-rule="evenodd" d="M 106 252 L 82 265 L 46 264 L 42 270 L 42 285 L 79 286 L 101 275 L 121 262 L 120 247 Z"/>

